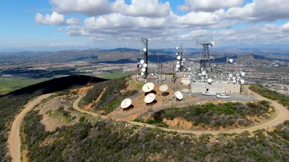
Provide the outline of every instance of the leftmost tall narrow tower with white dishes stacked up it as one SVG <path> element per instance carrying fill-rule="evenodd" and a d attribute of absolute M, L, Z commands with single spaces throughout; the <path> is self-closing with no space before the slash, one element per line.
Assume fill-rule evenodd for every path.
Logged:
<path fill-rule="evenodd" d="M 143 48 L 141 50 L 142 53 L 142 60 L 140 61 L 140 67 L 141 67 L 141 75 L 144 79 L 147 77 L 147 55 L 148 55 L 148 49 L 147 49 L 147 43 L 148 38 L 142 38 L 141 43 L 143 45 Z"/>

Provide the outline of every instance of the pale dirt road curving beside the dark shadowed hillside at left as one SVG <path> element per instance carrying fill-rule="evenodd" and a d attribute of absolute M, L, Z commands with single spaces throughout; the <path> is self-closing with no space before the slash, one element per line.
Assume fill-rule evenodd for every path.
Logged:
<path fill-rule="evenodd" d="M 21 159 L 21 151 L 20 151 L 20 135 L 19 129 L 22 124 L 22 121 L 25 115 L 38 103 L 40 103 L 43 99 L 48 98 L 52 94 L 46 94 L 37 97 L 33 101 L 29 101 L 25 106 L 24 109 L 16 116 L 15 120 L 12 123 L 12 127 L 8 136 L 8 147 L 10 149 L 10 155 L 12 162 L 20 162 Z"/>

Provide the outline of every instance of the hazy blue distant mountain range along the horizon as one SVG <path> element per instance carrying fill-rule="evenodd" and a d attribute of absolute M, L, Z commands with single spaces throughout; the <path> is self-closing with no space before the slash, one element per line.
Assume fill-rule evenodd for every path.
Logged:
<path fill-rule="evenodd" d="M 186 57 L 195 58 L 196 52 L 199 49 L 185 48 Z M 212 50 L 212 55 L 216 58 L 215 61 L 225 61 L 226 57 L 236 57 L 239 61 L 252 62 L 267 62 L 267 61 L 289 61 L 286 52 L 275 51 L 269 49 L 253 48 L 217 48 Z M 263 52 L 262 52 L 263 51 Z M 167 62 L 175 60 L 176 49 L 160 49 L 160 61 Z M 157 62 L 157 49 L 149 50 L 148 60 L 150 62 Z M 243 57 L 248 55 L 248 57 Z M 267 57 L 270 55 L 270 57 Z M 275 57 L 276 56 L 276 57 Z M 278 58 L 278 56 L 283 56 Z M 285 58 L 284 58 L 285 57 Z M 286 58 L 287 57 L 287 58 Z M 106 62 L 106 63 L 131 63 L 137 62 L 141 58 L 139 49 L 132 48 L 115 48 L 115 49 L 100 49 L 92 48 L 86 50 L 62 50 L 55 52 L 15 52 L 15 53 L 0 53 L 0 63 L 20 63 L 20 62 L 59 62 L 59 61 L 92 61 L 92 62 Z"/>

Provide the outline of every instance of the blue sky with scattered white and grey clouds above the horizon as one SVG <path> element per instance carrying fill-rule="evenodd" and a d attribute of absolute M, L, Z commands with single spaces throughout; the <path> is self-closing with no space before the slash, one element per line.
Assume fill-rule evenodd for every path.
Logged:
<path fill-rule="evenodd" d="M 289 0 L 1 0 L 0 51 L 287 47 Z"/>

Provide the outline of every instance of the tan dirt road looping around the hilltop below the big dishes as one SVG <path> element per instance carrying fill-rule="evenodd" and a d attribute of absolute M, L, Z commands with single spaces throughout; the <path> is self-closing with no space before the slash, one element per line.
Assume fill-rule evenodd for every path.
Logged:
<path fill-rule="evenodd" d="M 248 91 L 250 91 L 250 90 L 248 89 Z M 252 126 L 249 126 L 249 127 L 237 128 L 237 129 L 232 129 L 232 130 L 227 130 L 227 131 L 212 131 L 212 130 L 195 131 L 195 130 L 169 129 L 169 128 L 163 128 L 163 127 L 158 127 L 158 128 L 163 129 L 165 131 L 176 131 L 178 133 L 193 133 L 195 135 L 202 135 L 202 134 L 217 135 L 219 133 L 238 133 L 239 134 L 239 133 L 242 133 L 243 131 L 253 132 L 253 131 L 258 130 L 258 129 L 267 129 L 267 126 L 272 126 L 272 125 L 276 126 L 276 125 L 278 125 L 280 123 L 283 123 L 284 121 L 289 120 L 289 110 L 286 107 L 284 107 L 283 105 L 279 104 L 276 101 L 272 101 L 272 100 L 266 99 L 266 98 L 256 94 L 255 92 L 251 91 L 251 93 L 255 95 L 255 98 L 257 100 L 270 101 L 271 104 L 275 107 L 275 113 L 274 113 L 274 115 L 273 115 L 273 117 L 271 119 L 269 119 L 267 121 L 264 121 L 264 122 L 261 122 L 261 123 L 258 123 L 258 124 L 255 124 L 255 125 L 252 125 Z M 81 98 L 77 99 L 73 103 L 73 108 L 74 109 L 76 109 L 77 111 L 80 111 L 82 113 L 86 113 L 86 114 L 95 116 L 95 117 L 101 117 L 101 118 L 105 118 L 105 119 L 108 118 L 106 116 L 101 116 L 101 115 L 98 115 L 98 114 L 93 113 L 93 112 L 88 112 L 88 111 L 81 110 L 78 107 L 78 102 L 80 101 L 80 99 Z M 114 120 L 123 121 L 123 120 L 120 120 L 120 119 L 114 119 Z M 136 121 L 126 121 L 126 122 L 128 122 L 130 124 L 140 125 L 140 126 L 145 126 L 145 127 L 150 127 L 150 128 L 156 128 L 157 127 L 157 126 L 154 126 L 154 125 L 150 125 L 150 124 L 142 123 L 142 122 L 136 122 Z"/>

